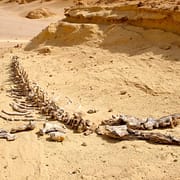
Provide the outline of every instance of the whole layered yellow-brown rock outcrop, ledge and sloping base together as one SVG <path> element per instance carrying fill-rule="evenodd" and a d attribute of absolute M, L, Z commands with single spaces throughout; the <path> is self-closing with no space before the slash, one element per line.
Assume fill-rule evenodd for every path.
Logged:
<path fill-rule="evenodd" d="M 152 7 L 152 4 L 145 1 L 140 3 L 135 0 L 119 0 L 118 5 L 101 5 L 102 2 L 99 2 L 99 5 L 96 3 L 93 6 L 89 5 L 90 1 L 87 5 L 83 5 L 81 1 L 76 2 L 79 4 L 65 9 L 66 18 L 63 21 L 52 23 L 45 28 L 32 39 L 25 50 L 41 48 L 43 45 L 79 44 L 105 48 L 118 45 L 121 50 L 126 47 L 141 48 L 147 44 L 158 44 L 161 47 L 162 44 L 171 44 L 172 41 L 159 30 L 180 34 L 178 9 L 159 7 L 157 3 Z M 150 33 L 147 29 L 150 29 Z M 173 41 L 180 43 L 177 37 Z M 150 89 L 148 91 L 150 94 L 156 94 Z"/>

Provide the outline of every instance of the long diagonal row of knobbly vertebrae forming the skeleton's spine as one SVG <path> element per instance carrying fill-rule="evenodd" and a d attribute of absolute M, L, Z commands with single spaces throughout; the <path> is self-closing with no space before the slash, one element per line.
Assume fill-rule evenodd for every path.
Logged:
<path fill-rule="evenodd" d="M 37 105 L 40 108 L 41 113 L 45 114 L 46 116 L 50 116 L 52 119 L 63 122 L 76 132 L 87 131 L 87 135 L 94 132 L 94 124 L 92 124 L 93 128 L 91 128 L 90 123 L 88 123 L 87 120 L 84 120 L 81 116 L 77 116 L 75 114 L 69 115 L 68 113 L 64 112 L 62 108 L 59 108 L 56 103 L 48 97 L 47 93 L 44 92 L 44 90 L 41 89 L 37 83 L 31 83 L 24 68 L 20 66 L 17 56 L 13 56 L 11 68 L 12 72 L 14 73 L 13 77 L 15 77 L 13 79 L 16 82 L 15 87 L 20 90 L 22 89 L 23 94 L 26 95 L 26 100 L 31 102 L 31 104 L 33 103 Z M 21 106 L 21 104 L 20 106 L 12 104 L 12 108 L 15 111 L 26 112 L 26 108 L 22 107 L 23 105 Z"/>

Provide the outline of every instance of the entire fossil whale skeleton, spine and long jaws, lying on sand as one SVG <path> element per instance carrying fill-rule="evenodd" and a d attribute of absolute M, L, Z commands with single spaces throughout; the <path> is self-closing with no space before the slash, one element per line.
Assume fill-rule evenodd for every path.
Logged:
<path fill-rule="evenodd" d="M 63 108 L 60 108 L 37 83 L 32 83 L 29 80 L 28 74 L 20 65 L 17 56 L 12 57 L 11 72 L 11 77 L 15 84 L 12 89 L 12 96 L 16 101 L 16 103 L 11 104 L 11 107 L 17 112 L 16 115 L 29 115 L 29 110 L 33 110 L 34 108 L 45 116 L 67 125 L 75 132 L 83 132 L 85 135 L 96 132 L 98 135 L 104 135 L 118 140 L 141 139 L 152 143 L 180 145 L 180 139 L 171 135 L 149 132 L 149 130 L 157 128 L 174 128 L 180 121 L 180 114 L 172 114 L 159 119 L 146 118 L 144 120 L 122 114 L 113 115 L 112 118 L 102 121 L 97 126 L 89 120 L 84 120 L 78 113 L 70 114 L 65 112 Z M 20 101 L 18 99 L 21 97 L 25 98 L 24 103 L 19 103 Z M 13 113 L 6 112 L 6 114 Z M 4 116 L 1 117 L 6 120 L 17 120 L 5 118 Z M 45 124 L 44 129 L 40 130 L 40 134 L 50 132 L 51 140 L 62 141 L 64 140 L 65 135 L 63 133 L 65 132 L 62 129 L 60 131 L 58 130 L 59 127 L 57 128 L 55 125 L 51 127 L 51 125 Z M 146 131 L 144 132 L 144 130 Z M 9 134 L 4 135 L 3 133 L 5 132 L 2 131 L 2 137 L 7 138 L 7 135 L 9 137 Z"/>

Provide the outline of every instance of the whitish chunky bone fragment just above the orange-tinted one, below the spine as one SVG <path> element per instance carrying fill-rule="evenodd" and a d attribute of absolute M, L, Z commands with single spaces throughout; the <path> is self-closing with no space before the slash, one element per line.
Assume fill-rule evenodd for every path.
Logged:
<path fill-rule="evenodd" d="M 52 124 L 52 123 L 44 123 L 43 129 L 39 130 L 40 135 L 44 135 L 50 132 L 61 132 L 61 133 L 66 133 L 66 128 L 63 125 L 57 125 L 57 124 Z"/>

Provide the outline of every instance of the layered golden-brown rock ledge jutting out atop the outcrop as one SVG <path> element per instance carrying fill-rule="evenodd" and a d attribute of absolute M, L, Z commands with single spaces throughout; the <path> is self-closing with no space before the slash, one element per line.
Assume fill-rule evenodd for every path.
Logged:
<path fill-rule="evenodd" d="M 114 6 L 73 7 L 65 10 L 65 21 L 71 23 L 130 24 L 180 34 L 180 11 L 174 8 L 152 8 L 138 3 Z"/>

